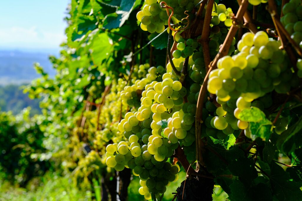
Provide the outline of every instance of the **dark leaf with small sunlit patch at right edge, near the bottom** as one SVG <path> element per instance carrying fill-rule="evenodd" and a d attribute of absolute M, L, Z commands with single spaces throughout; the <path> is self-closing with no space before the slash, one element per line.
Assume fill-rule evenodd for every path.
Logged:
<path fill-rule="evenodd" d="M 286 171 L 290 174 L 294 181 L 302 185 L 302 148 L 296 149 L 289 156 L 291 159 L 291 168 L 287 168 Z"/>

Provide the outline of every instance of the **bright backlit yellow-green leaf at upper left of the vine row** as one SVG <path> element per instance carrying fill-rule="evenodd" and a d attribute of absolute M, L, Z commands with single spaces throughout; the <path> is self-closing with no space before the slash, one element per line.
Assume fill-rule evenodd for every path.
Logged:
<path fill-rule="evenodd" d="M 100 33 L 93 38 L 92 41 L 92 61 L 95 65 L 102 64 L 105 58 L 109 57 L 109 53 L 113 50 L 113 45 L 109 42 L 107 33 Z"/>

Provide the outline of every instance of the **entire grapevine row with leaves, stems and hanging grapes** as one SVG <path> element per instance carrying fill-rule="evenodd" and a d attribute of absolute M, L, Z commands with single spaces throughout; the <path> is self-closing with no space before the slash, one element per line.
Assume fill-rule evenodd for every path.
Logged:
<path fill-rule="evenodd" d="M 25 89 L 42 115 L 0 115 L 8 178 L 60 169 L 96 200 L 301 200 L 300 0 L 68 11 L 55 77 L 37 64 Z"/>

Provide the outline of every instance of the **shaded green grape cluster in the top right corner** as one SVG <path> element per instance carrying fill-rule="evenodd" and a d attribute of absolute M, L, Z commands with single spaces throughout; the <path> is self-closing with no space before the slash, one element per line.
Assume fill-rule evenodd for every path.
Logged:
<path fill-rule="evenodd" d="M 281 23 L 291 38 L 302 47 L 302 4 L 299 0 L 291 0 L 282 8 L 284 16 Z"/>

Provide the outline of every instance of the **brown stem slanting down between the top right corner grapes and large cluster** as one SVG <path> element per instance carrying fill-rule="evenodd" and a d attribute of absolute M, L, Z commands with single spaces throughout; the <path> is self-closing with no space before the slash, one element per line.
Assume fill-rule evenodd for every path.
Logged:
<path fill-rule="evenodd" d="M 271 18 L 274 22 L 275 28 L 277 30 L 278 36 L 280 38 L 281 41 L 281 45 L 282 47 L 285 49 L 285 51 L 288 53 L 288 56 L 294 66 L 295 69 L 297 69 L 297 58 L 294 54 L 293 49 L 289 46 L 288 41 L 286 41 L 286 36 L 284 35 L 284 33 L 287 33 L 287 31 L 283 32 L 280 30 L 280 27 L 277 25 L 278 21 L 280 22 L 280 18 L 278 16 L 278 11 L 277 11 L 277 6 L 274 0 L 268 0 L 268 11 L 271 14 Z M 281 23 L 280 23 L 281 24 Z M 282 25 L 282 24 L 281 24 Z M 282 29 L 283 26 L 281 26 Z"/>

